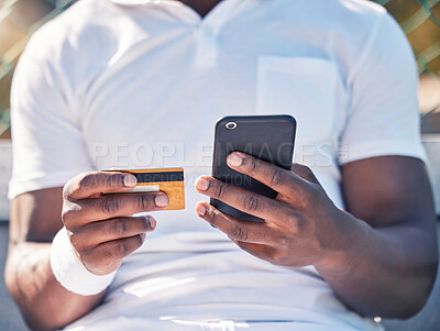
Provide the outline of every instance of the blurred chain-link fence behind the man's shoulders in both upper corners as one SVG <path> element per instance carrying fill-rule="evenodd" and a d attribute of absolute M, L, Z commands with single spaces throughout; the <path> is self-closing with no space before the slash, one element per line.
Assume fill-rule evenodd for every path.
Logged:
<path fill-rule="evenodd" d="M 10 137 L 9 93 L 20 54 L 36 29 L 73 2 L 75 0 L 0 0 L 0 139 Z M 420 74 L 438 75 L 440 0 L 374 2 L 385 5 L 402 24 L 417 56 Z M 428 112 L 436 111 L 438 106 L 440 103 Z"/>

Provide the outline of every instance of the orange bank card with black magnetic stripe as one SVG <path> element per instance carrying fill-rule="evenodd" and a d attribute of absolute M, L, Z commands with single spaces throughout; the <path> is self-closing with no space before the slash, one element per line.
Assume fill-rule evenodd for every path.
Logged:
<path fill-rule="evenodd" d="M 129 191 L 133 192 L 158 192 L 168 196 L 168 207 L 165 210 L 179 210 L 185 208 L 185 178 L 183 168 L 158 168 L 158 169 L 106 169 L 103 172 L 130 173 L 138 179 L 138 185 Z"/>

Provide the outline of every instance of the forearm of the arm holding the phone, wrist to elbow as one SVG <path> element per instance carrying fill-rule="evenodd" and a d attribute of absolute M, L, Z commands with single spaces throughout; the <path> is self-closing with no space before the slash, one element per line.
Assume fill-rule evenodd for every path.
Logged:
<path fill-rule="evenodd" d="M 316 267 L 346 306 L 388 318 L 408 318 L 422 308 L 438 263 L 432 236 L 404 225 L 373 229 L 343 211 L 337 231 L 345 247 Z"/>

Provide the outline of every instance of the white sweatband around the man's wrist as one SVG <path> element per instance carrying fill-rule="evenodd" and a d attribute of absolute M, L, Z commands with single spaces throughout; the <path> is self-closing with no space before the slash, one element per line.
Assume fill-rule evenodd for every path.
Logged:
<path fill-rule="evenodd" d="M 76 255 L 64 227 L 52 242 L 51 267 L 56 280 L 64 288 L 81 296 L 94 296 L 103 291 L 117 273 L 98 276 L 86 269 Z"/>

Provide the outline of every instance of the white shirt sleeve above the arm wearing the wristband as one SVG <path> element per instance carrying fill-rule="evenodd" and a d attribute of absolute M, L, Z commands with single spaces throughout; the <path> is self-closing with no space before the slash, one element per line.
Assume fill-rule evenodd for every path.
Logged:
<path fill-rule="evenodd" d="M 90 170 L 80 119 L 62 57 L 66 49 L 59 31 L 34 34 L 15 69 L 11 90 L 12 178 L 9 198 L 64 186 Z"/>

